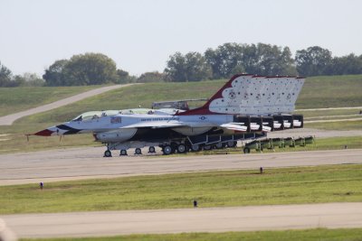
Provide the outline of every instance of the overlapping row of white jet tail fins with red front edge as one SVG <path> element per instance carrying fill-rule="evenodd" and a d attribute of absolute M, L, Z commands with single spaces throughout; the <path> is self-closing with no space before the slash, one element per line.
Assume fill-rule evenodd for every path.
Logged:
<path fill-rule="evenodd" d="M 266 115 L 290 113 L 304 79 L 285 76 L 234 75 L 203 107 L 183 113 L 189 115 Z"/>

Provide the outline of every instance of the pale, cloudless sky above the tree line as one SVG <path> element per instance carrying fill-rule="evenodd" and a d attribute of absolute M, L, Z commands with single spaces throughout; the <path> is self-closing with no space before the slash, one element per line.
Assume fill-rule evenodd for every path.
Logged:
<path fill-rule="evenodd" d="M 0 61 L 42 76 L 55 60 L 100 52 L 139 76 L 162 72 L 176 51 L 225 42 L 360 55 L 361 9 L 359 0 L 0 0 Z"/>

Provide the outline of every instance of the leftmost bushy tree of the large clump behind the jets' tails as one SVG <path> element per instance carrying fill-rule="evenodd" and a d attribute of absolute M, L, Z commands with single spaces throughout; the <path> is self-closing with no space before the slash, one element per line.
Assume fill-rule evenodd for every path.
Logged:
<path fill-rule="evenodd" d="M 167 60 L 165 75 L 169 81 L 199 81 L 210 79 L 212 70 L 199 52 L 188 52 L 182 55 L 176 52 Z"/>

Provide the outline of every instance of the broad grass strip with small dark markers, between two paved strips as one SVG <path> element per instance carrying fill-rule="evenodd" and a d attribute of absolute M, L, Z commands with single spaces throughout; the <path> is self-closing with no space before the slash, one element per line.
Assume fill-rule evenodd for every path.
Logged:
<path fill-rule="evenodd" d="M 362 199 L 362 165 L 206 171 L 0 187 L 0 213 L 353 202 Z"/>

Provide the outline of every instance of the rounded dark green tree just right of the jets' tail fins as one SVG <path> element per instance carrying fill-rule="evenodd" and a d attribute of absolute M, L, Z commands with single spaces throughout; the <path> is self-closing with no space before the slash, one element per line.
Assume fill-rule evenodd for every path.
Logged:
<path fill-rule="evenodd" d="M 332 62 L 332 53 L 319 46 L 309 47 L 307 50 L 297 51 L 295 60 L 297 70 L 303 76 L 318 76 L 329 74 L 329 65 Z"/>

